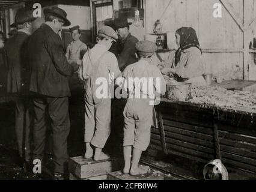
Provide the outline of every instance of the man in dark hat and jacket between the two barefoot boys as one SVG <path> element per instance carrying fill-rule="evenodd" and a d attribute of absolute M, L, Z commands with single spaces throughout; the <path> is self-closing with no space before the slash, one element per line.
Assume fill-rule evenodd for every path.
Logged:
<path fill-rule="evenodd" d="M 119 18 L 114 20 L 115 30 L 117 31 L 119 42 L 118 42 L 118 65 L 121 71 L 135 62 L 138 61 L 135 53 L 136 53 L 136 43 L 138 43 L 138 39 L 133 37 L 129 28 L 132 23 L 128 23 L 127 19 Z"/>

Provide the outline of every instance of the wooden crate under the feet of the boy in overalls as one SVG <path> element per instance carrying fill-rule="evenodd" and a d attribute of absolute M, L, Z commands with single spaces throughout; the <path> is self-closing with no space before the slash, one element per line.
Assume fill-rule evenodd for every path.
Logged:
<path fill-rule="evenodd" d="M 78 179 L 107 175 L 120 169 L 120 160 L 117 158 L 94 161 L 93 159 L 84 159 L 84 157 L 79 156 L 69 160 L 69 172 Z"/>

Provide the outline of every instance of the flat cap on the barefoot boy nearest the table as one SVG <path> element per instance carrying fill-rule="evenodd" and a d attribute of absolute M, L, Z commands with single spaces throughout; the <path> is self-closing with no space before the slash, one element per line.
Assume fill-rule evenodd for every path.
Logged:
<path fill-rule="evenodd" d="M 157 50 L 156 43 L 152 41 L 139 41 L 136 44 L 136 50 L 139 52 L 141 56 L 152 56 Z"/>

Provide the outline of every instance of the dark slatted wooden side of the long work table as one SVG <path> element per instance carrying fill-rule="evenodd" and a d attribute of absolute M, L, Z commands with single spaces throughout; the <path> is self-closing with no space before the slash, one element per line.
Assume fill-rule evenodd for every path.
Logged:
<path fill-rule="evenodd" d="M 150 148 L 207 163 L 219 158 L 228 170 L 256 175 L 256 111 L 223 109 L 162 98 Z"/>

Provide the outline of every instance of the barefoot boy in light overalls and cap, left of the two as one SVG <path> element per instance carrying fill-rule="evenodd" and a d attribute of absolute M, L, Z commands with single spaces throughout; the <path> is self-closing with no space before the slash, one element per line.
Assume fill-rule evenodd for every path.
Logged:
<path fill-rule="evenodd" d="M 114 29 L 103 26 L 98 32 L 98 43 L 85 53 L 79 70 L 81 79 L 85 80 L 85 158 L 93 157 L 95 161 L 109 158 L 102 149 L 111 131 L 111 98 L 99 98 L 96 90 L 102 85 L 97 85 L 96 81 L 105 78 L 110 86 L 109 76 L 114 74 L 115 79 L 121 73 L 117 58 L 108 51 L 117 38 Z M 85 69 L 87 64 L 91 64 L 90 74 Z M 111 81 L 114 82 L 114 79 Z M 94 155 L 92 146 L 95 148 Z"/>

